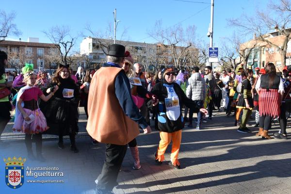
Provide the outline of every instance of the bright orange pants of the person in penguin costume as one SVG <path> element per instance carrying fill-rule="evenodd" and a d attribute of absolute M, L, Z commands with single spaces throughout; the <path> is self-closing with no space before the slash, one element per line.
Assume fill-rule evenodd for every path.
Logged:
<path fill-rule="evenodd" d="M 179 130 L 173 133 L 160 132 L 160 137 L 161 137 L 161 141 L 160 141 L 159 148 L 157 151 L 156 160 L 159 160 L 160 162 L 162 162 L 165 159 L 164 153 L 172 140 L 173 143 L 172 143 L 172 151 L 171 151 L 171 162 L 175 166 L 180 165 L 178 161 L 178 154 L 179 154 L 180 145 L 181 145 L 182 130 Z"/>

